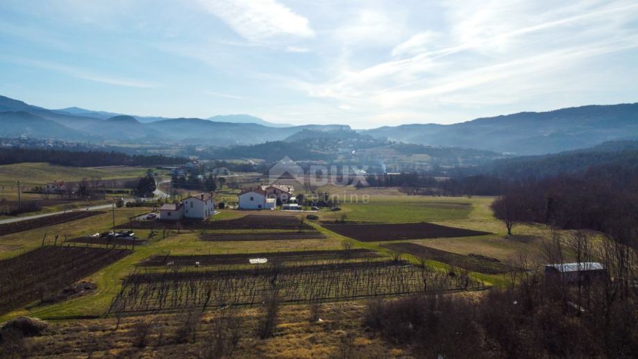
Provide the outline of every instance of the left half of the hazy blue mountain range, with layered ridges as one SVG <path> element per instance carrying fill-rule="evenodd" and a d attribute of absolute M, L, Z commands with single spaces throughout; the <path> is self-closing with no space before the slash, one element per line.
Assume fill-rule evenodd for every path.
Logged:
<path fill-rule="evenodd" d="M 250 122 L 261 122 L 256 124 Z M 226 121 L 226 122 L 223 122 Z M 237 123 L 234 123 L 237 122 Z M 305 129 L 336 131 L 349 126 L 285 126 L 249 115 L 216 116 L 211 119 L 135 117 L 82 108 L 48 110 L 0 96 L 0 135 L 44 137 L 61 140 L 116 141 L 137 143 L 186 142 L 228 146 L 283 140 Z M 285 127 L 278 127 L 285 126 Z"/>

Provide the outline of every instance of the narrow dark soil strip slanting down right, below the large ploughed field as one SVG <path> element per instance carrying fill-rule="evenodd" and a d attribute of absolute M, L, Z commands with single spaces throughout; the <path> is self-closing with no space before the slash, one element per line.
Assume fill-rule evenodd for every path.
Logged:
<path fill-rule="evenodd" d="M 441 251 L 414 243 L 390 243 L 383 244 L 383 247 L 398 251 L 401 253 L 412 254 L 418 258 L 436 260 L 444 262 L 455 267 L 464 268 L 472 272 L 480 272 L 485 274 L 502 274 L 507 272 L 507 266 L 496 258 L 489 258 L 480 255 L 468 255 Z"/>

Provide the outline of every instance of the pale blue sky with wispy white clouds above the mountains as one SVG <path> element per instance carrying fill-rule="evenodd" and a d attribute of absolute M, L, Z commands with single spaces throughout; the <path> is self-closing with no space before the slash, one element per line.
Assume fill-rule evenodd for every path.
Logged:
<path fill-rule="evenodd" d="M 2 0 L 0 94 L 353 128 L 634 103 L 638 1 Z"/>

